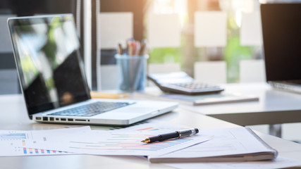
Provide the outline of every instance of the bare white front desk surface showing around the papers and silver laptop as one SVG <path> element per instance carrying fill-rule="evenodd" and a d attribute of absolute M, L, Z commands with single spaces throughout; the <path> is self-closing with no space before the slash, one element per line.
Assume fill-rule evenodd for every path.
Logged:
<path fill-rule="evenodd" d="M 46 130 L 66 125 L 35 123 L 27 118 L 25 103 L 20 95 L 0 96 L 0 130 Z M 188 125 L 202 129 L 238 127 L 232 123 L 185 111 L 181 108 L 156 117 L 166 123 Z M 92 126 L 92 128 L 99 128 Z M 279 151 L 279 155 L 301 160 L 301 144 L 288 142 L 277 137 L 257 132 L 265 142 Z M 128 156 L 23 156 L 0 157 L 1 168 L 169 168 L 166 165 L 151 164 L 145 159 Z"/>

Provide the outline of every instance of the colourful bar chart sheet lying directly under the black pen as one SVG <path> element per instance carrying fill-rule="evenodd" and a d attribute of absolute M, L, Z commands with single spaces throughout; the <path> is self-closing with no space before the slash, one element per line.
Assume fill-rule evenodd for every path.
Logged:
<path fill-rule="evenodd" d="M 175 130 L 178 129 L 163 124 L 147 123 L 112 132 L 91 131 L 85 137 L 69 138 L 72 140 L 65 142 L 68 149 L 63 150 L 79 154 L 150 156 L 166 154 L 210 139 L 195 135 L 152 144 L 141 142 L 146 137 Z"/>

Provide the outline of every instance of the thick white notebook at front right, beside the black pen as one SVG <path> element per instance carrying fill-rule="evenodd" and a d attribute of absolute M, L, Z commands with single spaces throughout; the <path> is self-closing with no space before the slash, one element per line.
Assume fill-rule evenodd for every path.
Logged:
<path fill-rule="evenodd" d="M 152 163 L 236 162 L 271 160 L 278 151 L 271 148 L 250 128 L 235 127 L 200 130 L 213 139 L 161 156 L 149 156 Z"/>

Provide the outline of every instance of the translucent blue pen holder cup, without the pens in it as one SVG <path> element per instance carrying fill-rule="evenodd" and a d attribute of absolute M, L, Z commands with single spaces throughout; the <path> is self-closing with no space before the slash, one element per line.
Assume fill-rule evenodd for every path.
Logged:
<path fill-rule="evenodd" d="M 123 92 L 143 91 L 147 82 L 147 54 L 115 55 L 118 67 L 118 89 Z"/>

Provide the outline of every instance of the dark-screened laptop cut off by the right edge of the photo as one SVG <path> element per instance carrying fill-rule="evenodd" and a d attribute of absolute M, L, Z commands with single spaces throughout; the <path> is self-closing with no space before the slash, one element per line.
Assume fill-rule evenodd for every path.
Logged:
<path fill-rule="evenodd" d="M 267 82 L 301 93 L 301 4 L 262 4 L 261 15 Z"/>

